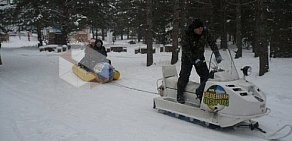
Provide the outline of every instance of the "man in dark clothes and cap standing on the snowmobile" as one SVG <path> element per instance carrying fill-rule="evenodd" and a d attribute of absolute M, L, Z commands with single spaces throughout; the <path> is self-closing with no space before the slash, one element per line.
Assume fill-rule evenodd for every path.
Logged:
<path fill-rule="evenodd" d="M 200 76 L 200 86 L 196 89 L 197 98 L 202 99 L 206 82 L 209 78 L 209 70 L 205 61 L 205 45 L 208 44 L 213 51 L 217 63 L 222 61 L 222 57 L 215 44 L 215 39 L 204 28 L 200 19 L 195 19 L 189 26 L 182 40 L 181 70 L 177 83 L 177 102 L 184 104 L 184 91 L 193 66 Z"/>

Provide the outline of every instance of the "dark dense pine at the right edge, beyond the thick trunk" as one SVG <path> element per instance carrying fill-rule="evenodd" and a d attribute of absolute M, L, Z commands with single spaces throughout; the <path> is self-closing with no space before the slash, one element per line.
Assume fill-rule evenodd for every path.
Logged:
<path fill-rule="evenodd" d="M 273 57 L 292 57 L 292 1 L 268 0 L 268 29 Z"/>

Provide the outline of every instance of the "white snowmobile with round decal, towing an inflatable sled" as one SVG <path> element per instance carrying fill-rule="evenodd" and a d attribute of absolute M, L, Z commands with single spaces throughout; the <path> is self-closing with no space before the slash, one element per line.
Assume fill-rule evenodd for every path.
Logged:
<path fill-rule="evenodd" d="M 252 119 L 267 115 L 271 110 L 266 106 L 264 92 L 245 79 L 250 74 L 251 67 L 243 67 L 241 69 L 243 78 L 240 78 L 231 51 L 220 50 L 220 54 L 223 57 L 220 64 L 212 59 L 213 54 L 210 55 L 208 63 L 210 77 L 206 82 L 202 99 L 199 100 L 195 93 L 199 83 L 190 81 L 185 88 L 184 104 L 177 102 L 176 66 L 163 66 L 163 78 L 157 80 L 160 97 L 154 98 L 153 108 L 159 112 L 174 113 L 222 128 L 248 123 L 249 127 L 263 131 L 259 128 L 258 122 Z M 291 134 L 291 125 L 283 128 L 286 127 L 290 131 L 281 137 Z M 272 136 L 268 138 L 274 139 Z"/>

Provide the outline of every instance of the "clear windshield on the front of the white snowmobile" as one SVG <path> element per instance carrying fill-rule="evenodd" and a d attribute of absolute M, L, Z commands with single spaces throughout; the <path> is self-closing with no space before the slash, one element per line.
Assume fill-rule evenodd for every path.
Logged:
<path fill-rule="evenodd" d="M 234 65 L 234 61 L 229 49 L 220 49 L 222 61 L 218 64 L 215 55 L 210 56 L 209 69 L 214 72 L 214 81 L 233 81 L 238 80 L 239 75 Z M 210 54 L 211 55 L 211 54 Z"/>

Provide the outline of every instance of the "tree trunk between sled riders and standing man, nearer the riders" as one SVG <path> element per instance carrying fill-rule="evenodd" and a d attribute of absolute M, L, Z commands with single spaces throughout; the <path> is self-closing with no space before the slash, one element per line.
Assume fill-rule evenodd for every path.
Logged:
<path fill-rule="evenodd" d="M 147 66 L 151 66 L 153 64 L 153 35 L 152 35 L 152 0 L 147 0 Z"/>

